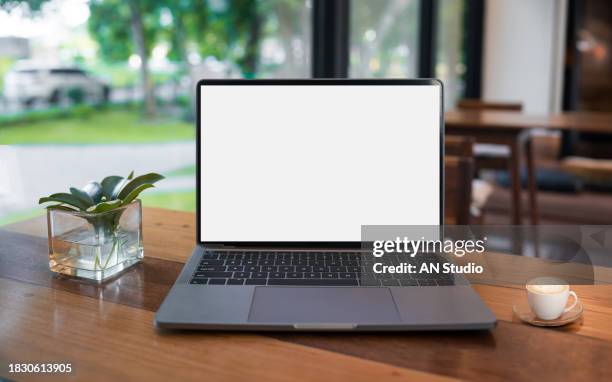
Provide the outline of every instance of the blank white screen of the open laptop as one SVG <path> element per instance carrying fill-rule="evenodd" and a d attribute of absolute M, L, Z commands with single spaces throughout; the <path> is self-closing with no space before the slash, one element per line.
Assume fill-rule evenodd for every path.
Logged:
<path fill-rule="evenodd" d="M 440 224 L 437 85 L 201 85 L 200 240 Z"/>

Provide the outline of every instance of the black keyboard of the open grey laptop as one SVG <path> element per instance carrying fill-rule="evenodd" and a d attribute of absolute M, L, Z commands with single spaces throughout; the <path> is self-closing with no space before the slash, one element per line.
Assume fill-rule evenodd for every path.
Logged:
<path fill-rule="evenodd" d="M 414 258 L 387 253 L 375 259 L 362 252 L 210 251 L 202 255 L 191 284 L 200 285 L 289 285 L 289 286 L 443 286 L 454 285 L 453 275 L 377 274 L 375 262 L 446 262 L 433 253 Z M 417 268 L 418 269 L 418 268 Z"/>

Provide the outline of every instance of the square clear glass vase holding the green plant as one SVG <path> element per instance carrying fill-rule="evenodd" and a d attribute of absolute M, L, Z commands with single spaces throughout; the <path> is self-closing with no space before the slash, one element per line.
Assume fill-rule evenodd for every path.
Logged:
<path fill-rule="evenodd" d="M 112 211 L 47 209 L 49 268 L 56 273 L 104 281 L 140 262 L 140 200 Z"/>

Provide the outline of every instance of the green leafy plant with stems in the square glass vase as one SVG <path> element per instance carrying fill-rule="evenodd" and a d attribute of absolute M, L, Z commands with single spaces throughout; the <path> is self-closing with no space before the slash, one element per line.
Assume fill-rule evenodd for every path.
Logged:
<path fill-rule="evenodd" d="M 117 257 L 124 245 L 122 240 L 125 241 L 125 238 L 119 232 L 121 215 L 141 192 L 154 187 L 153 184 L 162 179 L 163 176 L 155 173 L 134 177 L 133 171 L 126 178 L 111 175 L 101 182 L 90 182 L 82 189 L 71 187 L 70 193 L 40 198 L 38 203 L 55 203 L 47 206 L 47 209 L 68 211 L 85 219 L 93 228 L 96 242 L 112 242 L 107 254 L 103 253 L 101 246 L 97 247 L 94 270 L 104 270 L 109 259 Z"/>

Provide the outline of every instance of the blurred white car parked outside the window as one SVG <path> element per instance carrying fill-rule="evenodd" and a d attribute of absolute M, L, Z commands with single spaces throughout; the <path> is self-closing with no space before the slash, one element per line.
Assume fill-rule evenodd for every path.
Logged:
<path fill-rule="evenodd" d="M 110 95 L 108 84 L 78 67 L 19 62 L 4 77 L 3 96 L 26 106 L 58 104 L 70 102 L 75 90 L 86 103 L 103 103 Z"/>

